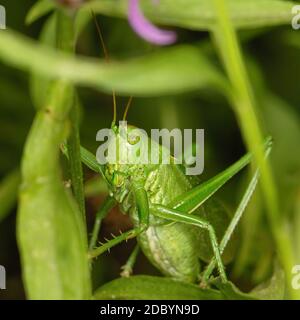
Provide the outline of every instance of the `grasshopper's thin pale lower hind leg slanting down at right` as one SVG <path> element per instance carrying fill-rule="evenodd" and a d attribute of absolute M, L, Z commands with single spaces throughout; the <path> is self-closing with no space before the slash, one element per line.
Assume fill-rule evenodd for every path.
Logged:
<path fill-rule="evenodd" d="M 256 185 L 257 185 L 257 182 L 258 182 L 258 178 L 259 178 L 259 170 L 257 170 L 253 176 L 253 178 L 251 179 L 247 189 L 246 189 L 246 192 L 244 193 L 243 195 L 243 198 L 223 236 L 223 239 L 220 243 L 220 253 L 222 254 L 226 248 L 226 245 L 228 244 L 237 224 L 239 223 L 241 217 L 242 217 L 242 214 L 244 213 L 250 199 L 251 199 L 251 196 L 253 195 L 254 191 L 255 191 L 255 188 L 256 188 Z M 216 266 L 216 259 L 213 257 L 211 262 L 209 263 L 209 265 L 207 266 L 204 274 L 203 274 L 203 282 L 206 283 L 208 280 L 209 280 L 209 277 L 210 275 L 212 274 L 214 268 Z"/>

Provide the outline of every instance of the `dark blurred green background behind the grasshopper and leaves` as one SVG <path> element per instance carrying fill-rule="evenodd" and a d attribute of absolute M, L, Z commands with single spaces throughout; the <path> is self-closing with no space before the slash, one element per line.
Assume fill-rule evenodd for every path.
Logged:
<path fill-rule="evenodd" d="M 30 26 L 25 17 L 35 1 L 0 1 L 7 11 L 9 28 L 38 39 L 47 15 Z M 126 60 L 143 56 L 155 49 L 133 33 L 128 22 L 120 18 L 99 16 L 99 22 L 110 52 L 111 59 Z M 2 31 L 1 33 L 5 32 Z M 207 32 L 178 29 L 179 43 L 188 43 L 201 48 L 218 68 L 220 62 Z M 290 25 L 259 28 L 239 32 L 243 52 L 259 101 L 259 116 L 265 132 L 274 137 L 272 166 L 279 188 L 282 214 L 289 222 L 294 235 L 293 246 L 299 253 L 300 264 L 300 31 Z M 82 32 L 77 52 L 103 58 L 95 25 L 91 22 Z M 189 63 L 189 61 L 186 61 Z M 199 70 L 201 73 L 201 70 Z M 126 82 L 126 78 L 122 79 Z M 170 79 L 172 81 L 172 79 Z M 18 168 L 24 142 L 35 114 L 34 94 L 30 89 L 32 77 L 0 63 L 0 264 L 7 270 L 8 290 L 0 291 L 1 298 L 25 297 L 21 279 L 21 267 L 16 245 L 16 208 L 14 201 L 18 185 Z M 98 144 L 96 132 L 110 126 L 112 121 L 112 99 L 108 93 L 78 87 L 81 109 L 82 145 L 95 152 Z M 118 112 L 122 115 L 127 97 L 118 97 Z M 136 97 L 129 111 L 128 121 L 137 127 L 151 128 L 204 128 L 205 171 L 203 179 L 211 177 L 233 163 L 244 152 L 245 147 L 234 112 L 224 97 L 212 88 L 191 91 L 178 95 L 158 97 Z M 85 180 L 95 175 L 85 169 Z M 10 183 L 7 182 L 9 175 Z M 219 197 L 229 208 L 237 205 L 247 174 L 234 178 Z M 11 189 L 7 191 L 7 186 Z M 2 200 L 7 193 L 11 201 Z M 94 214 L 103 199 L 103 194 L 88 195 L 88 223 L 92 225 Z M 6 206 L 5 203 L 8 203 Z M 101 237 L 126 230 L 130 221 L 114 210 L 105 220 Z M 232 279 L 245 290 L 265 280 L 272 272 L 274 245 L 264 215 L 262 199 L 257 193 L 248 207 L 239 227 L 241 241 L 236 258 L 230 265 Z M 297 238 L 298 237 L 298 238 Z M 105 254 L 94 268 L 94 287 L 116 278 L 120 266 L 126 261 L 134 241 L 122 244 Z M 140 255 L 135 274 L 159 274 Z"/>

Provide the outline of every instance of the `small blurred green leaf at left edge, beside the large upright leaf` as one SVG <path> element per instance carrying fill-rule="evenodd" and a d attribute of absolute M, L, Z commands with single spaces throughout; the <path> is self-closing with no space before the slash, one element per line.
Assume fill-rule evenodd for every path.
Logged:
<path fill-rule="evenodd" d="M 9 173 L 0 184 L 0 222 L 6 218 L 13 206 L 16 204 L 19 185 L 20 172 L 15 170 Z"/>

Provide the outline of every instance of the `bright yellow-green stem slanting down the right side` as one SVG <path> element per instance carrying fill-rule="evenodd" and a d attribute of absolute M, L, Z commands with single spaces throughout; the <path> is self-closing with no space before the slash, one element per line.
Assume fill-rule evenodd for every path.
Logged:
<path fill-rule="evenodd" d="M 264 160 L 263 151 L 259 148 L 263 141 L 263 135 L 255 113 L 256 103 L 253 90 L 247 76 L 237 35 L 230 21 L 226 2 L 225 0 L 214 0 L 214 5 L 218 23 L 213 32 L 233 87 L 233 93 L 229 99 L 239 120 L 245 142 L 253 152 L 256 165 L 261 170 L 261 187 L 266 201 L 271 231 L 285 270 L 290 296 L 297 299 L 299 294 L 291 287 L 291 268 L 294 264 L 291 239 L 284 228 L 283 217 L 280 215 L 277 190 L 270 164 L 268 160 Z"/>

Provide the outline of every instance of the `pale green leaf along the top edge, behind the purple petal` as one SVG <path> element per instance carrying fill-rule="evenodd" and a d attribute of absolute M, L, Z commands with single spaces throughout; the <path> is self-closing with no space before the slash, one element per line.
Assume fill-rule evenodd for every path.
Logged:
<path fill-rule="evenodd" d="M 91 8 L 101 14 L 127 16 L 127 0 L 95 0 L 82 10 Z M 212 1 L 163 0 L 154 5 L 152 0 L 141 1 L 145 15 L 153 22 L 194 30 L 210 30 L 216 25 Z M 295 3 L 279 0 L 229 0 L 232 22 L 236 28 L 247 29 L 291 23 L 291 9 Z"/>

